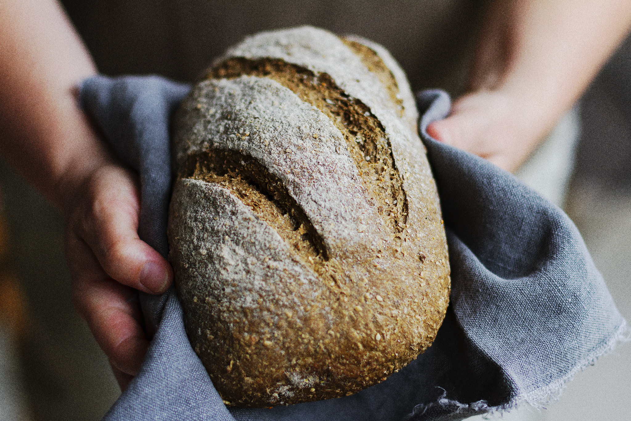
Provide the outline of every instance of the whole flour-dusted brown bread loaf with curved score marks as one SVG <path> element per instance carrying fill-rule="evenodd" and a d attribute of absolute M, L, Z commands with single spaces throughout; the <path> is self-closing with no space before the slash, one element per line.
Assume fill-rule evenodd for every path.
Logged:
<path fill-rule="evenodd" d="M 170 260 L 228 405 L 352 394 L 432 343 L 449 261 L 417 117 L 386 50 L 312 27 L 245 39 L 182 104 Z"/>

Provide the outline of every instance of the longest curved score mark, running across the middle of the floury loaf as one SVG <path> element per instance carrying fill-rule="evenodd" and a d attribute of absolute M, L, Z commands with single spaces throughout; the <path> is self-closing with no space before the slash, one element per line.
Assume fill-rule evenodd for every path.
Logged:
<path fill-rule="evenodd" d="M 376 53 L 375 57 L 380 60 Z M 329 117 L 345 138 L 369 198 L 375 202 L 371 205 L 377 207 L 393 238 L 403 232 L 408 216 L 403 180 L 396 168 L 386 131 L 367 105 L 350 97 L 328 74 L 315 74 L 281 59 L 233 57 L 211 69 L 206 78 L 237 78 L 244 74 L 280 83 Z M 391 89 L 394 89 L 396 81 L 390 76 L 394 83 Z"/>

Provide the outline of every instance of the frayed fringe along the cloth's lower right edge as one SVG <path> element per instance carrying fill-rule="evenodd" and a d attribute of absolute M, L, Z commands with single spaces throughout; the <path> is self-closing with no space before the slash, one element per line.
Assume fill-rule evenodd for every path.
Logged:
<path fill-rule="evenodd" d="M 603 345 L 601 345 L 600 347 L 596 348 L 596 350 L 591 352 L 585 359 L 578 362 L 573 369 L 565 374 L 565 376 L 561 377 L 555 382 L 548 384 L 548 386 L 543 386 L 529 393 L 519 394 L 507 403 L 497 406 L 488 406 L 488 403 L 485 400 L 480 400 L 469 404 L 460 403 L 455 400 L 449 400 L 446 397 L 447 392 L 444 391 L 438 401 L 428 403 L 427 405 L 416 405 L 412 412 L 407 417 L 405 417 L 404 420 L 416 419 L 435 406 L 444 408 L 447 406 L 452 406 L 452 408 L 454 408 L 452 414 L 462 413 L 463 415 L 466 415 L 466 417 L 474 417 L 475 415 L 481 415 L 483 413 L 488 413 L 490 415 L 502 415 L 503 413 L 515 410 L 518 406 L 524 404 L 536 410 L 546 409 L 545 405 L 558 401 L 560 396 L 563 394 L 563 391 L 565 391 L 567 383 L 571 381 L 578 372 L 583 371 L 584 369 L 589 367 L 589 365 L 594 365 L 594 363 L 596 363 L 596 360 L 598 360 L 600 357 L 603 357 L 603 355 L 607 355 L 608 353 L 612 352 L 615 349 L 616 345 L 618 345 L 618 342 L 627 341 L 631 341 L 631 329 L 627 325 L 627 321 L 623 319 L 622 324 L 620 324 L 620 326 L 615 330 L 608 341 L 603 343 Z"/>

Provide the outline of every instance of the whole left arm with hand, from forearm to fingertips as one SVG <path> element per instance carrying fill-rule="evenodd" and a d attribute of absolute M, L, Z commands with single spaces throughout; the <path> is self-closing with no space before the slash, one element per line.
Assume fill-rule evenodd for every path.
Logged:
<path fill-rule="evenodd" d="M 61 210 L 74 306 L 125 388 L 148 347 L 136 290 L 165 291 L 172 269 L 138 238 L 137 176 L 77 106 L 96 68 L 60 6 L 0 1 L 0 45 L 0 153 Z"/>

